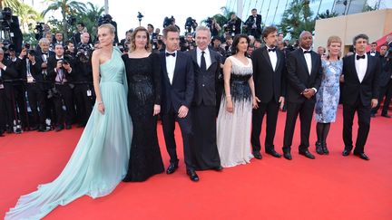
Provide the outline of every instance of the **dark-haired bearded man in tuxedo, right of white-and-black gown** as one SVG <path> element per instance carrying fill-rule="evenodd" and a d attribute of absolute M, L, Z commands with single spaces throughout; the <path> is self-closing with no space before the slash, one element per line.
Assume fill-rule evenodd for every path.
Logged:
<path fill-rule="evenodd" d="M 262 37 L 266 45 L 253 52 L 253 81 L 255 83 L 258 109 L 253 110 L 251 144 L 253 156 L 261 159 L 260 132 L 264 115 L 267 113 L 266 139 L 264 142 L 267 154 L 275 158 L 281 155 L 275 151 L 275 138 L 278 111 L 284 105 L 286 92 L 286 61 L 285 55 L 277 49 L 278 29 L 274 26 L 266 27 Z"/>

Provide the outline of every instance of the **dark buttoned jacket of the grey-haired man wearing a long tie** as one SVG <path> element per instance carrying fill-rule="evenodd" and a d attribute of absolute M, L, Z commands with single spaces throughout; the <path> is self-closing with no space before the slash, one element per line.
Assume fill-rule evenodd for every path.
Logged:
<path fill-rule="evenodd" d="M 194 95 L 192 104 L 200 105 L 203 102 L 208 106 L 216 106 L 216 86 L 220 76 L 220 54 L 210 48 L 211 65 L 206 72 L 201 71 L 197 62 L 197 50 L 193 49 L 191 54 L 194 71 Z"/>

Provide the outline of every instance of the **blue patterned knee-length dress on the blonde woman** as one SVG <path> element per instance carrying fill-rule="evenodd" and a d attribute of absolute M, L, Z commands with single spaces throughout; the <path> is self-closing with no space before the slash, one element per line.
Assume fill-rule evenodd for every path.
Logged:
<path fill-rule="evenodd" d="M 343 61 L 322 60 L 323 75 L 319 91 L 316 94 L 316 121 L 319 123 L 335 122 L 339 100 L 339 78 Z"/>

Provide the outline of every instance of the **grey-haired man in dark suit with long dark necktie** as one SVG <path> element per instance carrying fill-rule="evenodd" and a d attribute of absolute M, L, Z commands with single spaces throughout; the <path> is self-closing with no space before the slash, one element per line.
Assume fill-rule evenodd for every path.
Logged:
<path fill-rule="evenodd" d="M 220 54 L 208 48 L 211 32 L 208 27 L 196 28 L 196 49 L 190 51 L 195 79 L 191 105 L 196 169 L 221 170 L 216 143 L 216 87 L 220 76 Z"/>

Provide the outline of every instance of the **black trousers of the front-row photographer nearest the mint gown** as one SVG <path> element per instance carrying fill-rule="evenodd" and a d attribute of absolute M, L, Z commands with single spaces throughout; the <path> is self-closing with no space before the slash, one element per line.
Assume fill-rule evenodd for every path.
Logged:
<path fill-rule="evenodd" d="M 57 117 L 56 125 L 71 125 L 75 115 L 73 105 L 73 91 L 68 84 L 55 85 L 55 88 L 60 91 L 60 97 L 54 97 L 54 108 Z M 65 110 L 63 109 L 63 102 Z"/>

